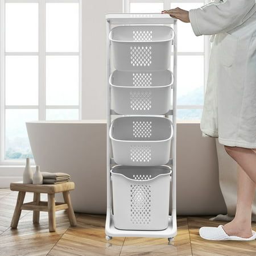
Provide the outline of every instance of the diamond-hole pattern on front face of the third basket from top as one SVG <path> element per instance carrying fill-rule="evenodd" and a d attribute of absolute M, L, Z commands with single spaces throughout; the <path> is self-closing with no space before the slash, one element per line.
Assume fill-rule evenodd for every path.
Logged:
<path fill-rule="evenodd" d="M 130 159 L 133 162 L 150 162 L 151 146 L 130 146 Z"/>

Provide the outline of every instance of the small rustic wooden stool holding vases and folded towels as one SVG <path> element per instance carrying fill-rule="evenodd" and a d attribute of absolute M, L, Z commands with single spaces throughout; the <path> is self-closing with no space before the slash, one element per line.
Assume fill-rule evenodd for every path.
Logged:
<path fill-rule="evenodd" d="M 68 218 L 71 226 L 76 226 L 76 216 L 73 211 L 69 191 L 75 189 L 75 183 L 64 182 L 51 185 L 23 184 L 13 182 L 10 184 L 12 191 L 19 191 L 16 207 L 11 220 L 11 228 L 16 229 L 22 210 L 33 210 L 33 223 L 39 223 L 40 211 L 48 212 L 49 232 L 55 232 L 55 211 L 68 209 Z M 34 200 L 30 203 L 23 204 L 26 192 L 34 193 Z M 65 203 L 55 202 L 55 193 L 63 193 Z M 48 194 L 48 202 L 40 201 L 40 193 Z"/>

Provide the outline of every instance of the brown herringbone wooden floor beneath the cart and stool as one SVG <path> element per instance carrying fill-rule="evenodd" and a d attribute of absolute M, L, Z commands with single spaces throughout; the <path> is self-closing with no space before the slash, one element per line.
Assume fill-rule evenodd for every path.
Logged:
<path fill-rule="evenodd" d="M 256 240 L 201 239 L 201 226 L 224 224 L 209 221 L 209 217 L 179 217 L 177 236 L 169 244 L 159 238 L 113 238 L 106 242 L 104 215 L 76 214 L 78 226 L 71 228 L 64 211 L 56 212 L 56 232 L 48 232 L 47 213 L 40 213 L 40 224 L 32 224 L 32 212 L 26 210 L 18 229 L 10 229 L 16 196 L 16 192 L 0 189 L 0 255 L 256 255 Z M 31 200 L 32 194 L 26 199 Z"/>

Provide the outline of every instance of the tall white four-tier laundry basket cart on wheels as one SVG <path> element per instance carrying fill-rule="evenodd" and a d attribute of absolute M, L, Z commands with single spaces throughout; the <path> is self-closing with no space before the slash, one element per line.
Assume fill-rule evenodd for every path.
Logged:
<path fill-rule="evenodd" d="M 106 22 L 106 240 L 171 241 L 177 234 L 177 20 L 115 13 Z"/>

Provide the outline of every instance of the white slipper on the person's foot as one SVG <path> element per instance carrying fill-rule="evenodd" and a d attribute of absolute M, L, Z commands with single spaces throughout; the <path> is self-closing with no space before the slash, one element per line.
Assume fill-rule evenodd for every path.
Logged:
<path fill-rule="evenodd" d="M 224 229 L 223 225 L 219 225 L 217 228 L 210 226 L 203 226 L 199 229 L 199 234 L 201 238 L 206 240 L 237 240 L 237 241 L 251 241 L 256 239 L 256 232 L 252 230 L 253 236 L 249 238 L 229 236 Z"/>

